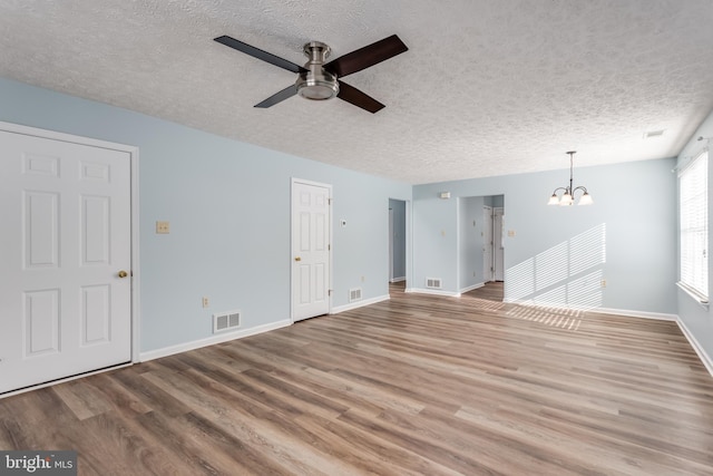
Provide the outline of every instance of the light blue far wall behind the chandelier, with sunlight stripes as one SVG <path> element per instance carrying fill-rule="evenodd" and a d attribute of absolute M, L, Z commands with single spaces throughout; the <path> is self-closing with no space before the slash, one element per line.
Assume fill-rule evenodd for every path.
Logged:
<path fill-rule="evenodd" d="M 675 314 L 676 190 L 671 159 L 575 167 L 593 206 L 548 206 L 568 169 L 413 187 L 414 281 L 457 292 L 457 200 L 505 195 L 506 300 Z M 445 234 L 445 236 L 443 236 Z M 600 281 L 606 280 L 606 288 Z"/>

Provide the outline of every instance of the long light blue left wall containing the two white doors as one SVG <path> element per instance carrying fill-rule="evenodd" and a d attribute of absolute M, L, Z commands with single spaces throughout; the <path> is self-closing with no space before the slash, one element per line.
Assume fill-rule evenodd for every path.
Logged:
<path fill-rule="evenodd" d="M 388 198 L 410 200 L 408 184 L 4 79 L 0 105 L 2 122 L 139 147 L 141 351 L 211 337 L 213 312 L 240 309 L 244 329 L 290 319 L 291 177 L 331 184 L 348 220 L 333 227 L 333 305 L 350 288 L 389 293 Z"/>

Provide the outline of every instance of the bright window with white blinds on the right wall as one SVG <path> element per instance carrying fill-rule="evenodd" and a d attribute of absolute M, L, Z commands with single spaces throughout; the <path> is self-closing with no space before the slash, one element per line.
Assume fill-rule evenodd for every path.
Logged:
<path fill-rule="evenodd" d="M 681 282 L 701 302 L 709 300 L 709 152 L 678 175 Z"/>

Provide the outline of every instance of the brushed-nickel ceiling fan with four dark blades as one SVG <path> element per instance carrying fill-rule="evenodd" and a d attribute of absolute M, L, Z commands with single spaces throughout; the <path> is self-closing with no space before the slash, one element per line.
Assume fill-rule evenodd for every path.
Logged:
<path fill-rule="evenodd" d="M 275 93 L 262 103 L 256 104 L 255 107 L 271 107 L 294 95 L 313 100 L 331 99 L 336 96 L 372 114 L 385 106 L 340 78 L 367 69 L 408 50 L 403 41 L 392 35 L 330 62 L 324 62 L 330 56 L 331 48 L 321 41 L 310 41 L 303 47 L 304 55 L 309 58 L 309 61 L 302 67 L 225 35 L 215 38 L 215 41 L 297 74 L 297 80 L 294 85 Z"/>

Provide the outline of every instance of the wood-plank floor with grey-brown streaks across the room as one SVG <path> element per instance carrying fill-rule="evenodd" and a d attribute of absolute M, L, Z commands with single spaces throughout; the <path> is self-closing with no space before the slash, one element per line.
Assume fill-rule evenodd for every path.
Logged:
<path fill-rule="evenodd" d="M 674 322 L 401 290 L 0 399 L 0 448 L 80 475 L 713 474 L 713 378 Z"/>

